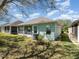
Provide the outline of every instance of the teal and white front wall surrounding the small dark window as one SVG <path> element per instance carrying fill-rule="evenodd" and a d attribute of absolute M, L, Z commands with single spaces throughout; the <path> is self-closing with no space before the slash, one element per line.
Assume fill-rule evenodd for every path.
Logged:
<path fill-rule="evenodd" d="M 38 33 L 43 35 L 44 39 L 51 39 L 51 40 L 55 39 L 55 24 L 38 24 L 38 25 L 33 25 L 33 26 L 37 26 Z M 50 29 L 51 29 L 50 35 L 46 34 L 47 26 L 50 26 Z"/>

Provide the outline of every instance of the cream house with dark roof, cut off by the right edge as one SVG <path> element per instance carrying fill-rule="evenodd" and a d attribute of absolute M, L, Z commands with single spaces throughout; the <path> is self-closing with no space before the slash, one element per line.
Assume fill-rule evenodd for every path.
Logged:
<path fill-rule="evenodd" d="M 68 31 L 69 37 L 73 37 L 79 42 L 79 20 L 74 21 Z"/>

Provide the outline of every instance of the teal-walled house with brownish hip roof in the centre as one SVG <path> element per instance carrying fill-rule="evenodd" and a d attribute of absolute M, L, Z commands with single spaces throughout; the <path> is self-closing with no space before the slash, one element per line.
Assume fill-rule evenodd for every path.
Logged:
<path fill-rule="evenodd" d="M 61 24 L 48 18 L 39 17 L 18 25 L 18 34 L 32 37 L 34 34 L 44 36 L 44 39 L 57 38 L 61 33 Z"/>

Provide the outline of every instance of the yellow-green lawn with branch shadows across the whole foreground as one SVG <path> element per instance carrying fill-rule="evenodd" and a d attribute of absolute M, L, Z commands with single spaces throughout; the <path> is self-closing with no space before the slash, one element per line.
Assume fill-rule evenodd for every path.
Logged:
<path fill-rule="evenodd" d="M 8 39 L 6 39 L 8 37 Z M 17 38 L 18 37 L 18 38 Z M 19 38 L 20 37 L 20 38 Z M 19 41 L 10 40 L 15 38 Z M 67 35 L 63 39 L 67 39 Z M 62 38 L 61 38 L 62 39 Z M 79 46 L 70 41 L 32 40 L 28 37 L 0 33 L 0 54 L 7 59 L 78 59 Z M 8 42 L 8 45 L 7 43 Z M 0 43 L 1 44 L 1 43 Z M 19 46 L 13 47 L 12 46 Z M 3 57 L 0 55 L 0 57 Z"/>

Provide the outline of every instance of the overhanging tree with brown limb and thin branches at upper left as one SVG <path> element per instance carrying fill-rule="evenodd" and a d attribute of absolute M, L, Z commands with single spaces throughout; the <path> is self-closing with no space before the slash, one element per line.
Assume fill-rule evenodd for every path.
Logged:
<path fill-rule="evenodd" d="M 55 8 L 54 0 L 0 0 L 0 18 L 2 19 L 4 18 L 4 15 L 6 15 L 4 20 L 6 21 L 7 16 L 9 18 L 14 17 L 13 15 L 8 14 L 8 10 L 11 4 L 16 5 L 16 7 L 21 11 L 22 15 L 29 16 L 23 9 L 26 8 L 26 6 L 32 6 L 38 2 L 43 5 L 42 9 Z"/>

